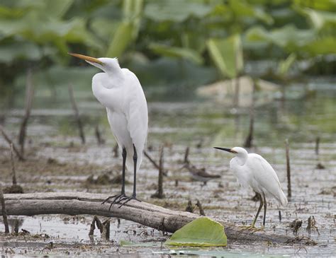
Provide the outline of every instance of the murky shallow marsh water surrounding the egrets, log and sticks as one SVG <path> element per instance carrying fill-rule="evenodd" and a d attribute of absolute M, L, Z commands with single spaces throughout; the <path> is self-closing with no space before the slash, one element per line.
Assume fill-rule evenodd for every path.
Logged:
<path fill-rule="evenodd" d="M 335 255 L 335 184 L 336 184 L 336 90 L 329 79 L 310 80 L 308 98 L 293 98 L 284 104 L 271 102 L 255 110 L 254 148 L 274 166 L 279 180 L 287 191 L 286 159 L 284 140 L 290 141 L 292 198 L 289 205 L 281 209 L 269 200 L 266 230 L 279 234 L 293 235 L 289 223 L 298 218 L 303 226 L 298 235 L 306 235 L 318 242 L 314 247 L 301 245 L 272 245 L 271 243 L 232 242 L 228 247 L 208 249 L 169 250 L 161 242 L 167 236 L 157 230 L 142 227 L 130 221 L 116 219 L 111 223 L 111 240 L 102 240 L 98 230 L 94 239 L 89 238 L 91 216 L 33 216 L 20 217 L 20 229 L 30 231 L 32 237 L 8 237 L 0 235 L 1 254 L 102 254 L 111 257 L 164 257 L 196 254 L 201 257 L 266 257 L 274 256 L 333 256 Z M 307 89 L 306 89 L 307 90 Z M 291 87 L 289 92 L 302 95 L 302 87 Z M 43 107 L 38 96 L 28 127 L 28 154 L 33 161 L 16 163 L 18 181 L 26 192 L 37 191 L 88 191 L 110 193 L 108 185 L 86 183 L 90 175 L 101 175 L 111 171 L 118 174 L 120 158 L 113 158 L 115 144 L 105 118 L 105 111 L 88 97 L 81 95 L 79 108 L 84 117 L 87 143 L 81 146 L 77 128 L 69 105 L 50 102 L 49 109 Z M 293 94 L 291 94 L 293 95 Z M 85 100 L 85 101 L 84 101 Z M 62 107 L 62 109 L 57 108 Z M 164 178 L 166 199 L 151 199 L 155 192 L 157 170 L 144 158 L 138 176 L 140 199 L 169 209 L 184 210 L 187 201 L 199 199 L 206 215 L 222 221 L 242 225 L 251 223 L 258 203 L 251 200 L 251 190 L 242 189 L 234 175 L 228 171 L 229 153 L 215 151 L 213 146 L 242 146 L 249 127 L 249 110 L 235 110 L 206 100 L 194 102 L 150 102 L 150 131 L 148 146 L 150 154 L 157 159 L 158 149 L 164 144 L 164 162 L 169 170 Z M 4 126 L 15 136 L 23 111 L 11 109 L 6 112 Z M 106 143 L 98 146 L 94 137 L 94 124 L 99 122 Z M 315 139 L 320 136 L 320 154 L 315 154 Z M 182 168 L 186 146 L 190 147 L 189 159 L 198 168 L 220 174 L 205 186 L 193 182 L 189 172 Z M 10 167 L 6 143 L 0 139 L 1 180 L 10 184 Z M 49 159 L 49 161 L 48 161 Z M 52 160 L 52 161 L 50 161 Z M 318 169 L 321 163 L 325 169 Z M 114 175 L 113 174 L 113 175 Z M 128 180 L 131 181 L 128 173 Z M 176 185 L 178 181 L 178 185 Z M 113 185 L 115 192 L 119 186 Z M 130 191 L 130 186 L 127 186 Z M 198 212 L 195 209 L 195 212 Z M 318 231 L 308 233 L 305 228 L 310 216 L 314 216 Z M 11 216 L 12 217 L 12 216 Z M 103 218 L 102 218 L 103 219 Z M 259 218 L 258 226 L 262 222 Z M 0 231 L 4 226 L 0 223 Z M 121 240 L 133 242 L 132 246 L 119 246 Z M 50 248 L 50 242 L 53 247 Z"/>

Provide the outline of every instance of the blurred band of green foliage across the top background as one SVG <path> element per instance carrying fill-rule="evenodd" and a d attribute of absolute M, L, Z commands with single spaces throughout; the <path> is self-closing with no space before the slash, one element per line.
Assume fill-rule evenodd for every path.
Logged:
<path fill-rule="evenodd" d="M 279 61 L 335 55 L 335 11 L 333 0 L 2 0 L 0 86 L 28 64 L 41 72 L 74 64 L 67 52 L 118 57 L 128 66 L 140 55 L 146 67 L 176 59 L 168 63 L 178 64 L 180 84 L 189 85 L 189 67 L 211 75 L 202 82 L 215 80 L 213 68 L 234 78 L 243 72 L 243 52 Z M 135 72 L 157 78 L 155 85 L 175 68 L 165 67 L 164 79 L 141 66 Z"/>

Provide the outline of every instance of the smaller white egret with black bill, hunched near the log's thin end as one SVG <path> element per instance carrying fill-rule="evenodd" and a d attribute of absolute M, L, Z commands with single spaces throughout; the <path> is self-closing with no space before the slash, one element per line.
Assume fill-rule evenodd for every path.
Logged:
<path fill-rule="evenodd" d="M 276 172 L 271 165 L 262 158 L 262 156 L 254 153 L 247 153 L 245 148 L 219 148 L 221 151 L 235 153 L 236 157 L 230 160 L 230 170 L 233 170 L 242 187 L 252 187 L 254 192 L 257 192 L 260 197 L 260 205 L 257 215 L 254 218 L 252 225 L 248 228 L 254 228 L 254 225 L 259 216 L 259 212 L 264 206 L 264 221 L 265 225 L 267 202 L 266 197 L 274 197 L 282 206 L 285 206 L 288 201 L 281 189 L 281 184 Z"/>

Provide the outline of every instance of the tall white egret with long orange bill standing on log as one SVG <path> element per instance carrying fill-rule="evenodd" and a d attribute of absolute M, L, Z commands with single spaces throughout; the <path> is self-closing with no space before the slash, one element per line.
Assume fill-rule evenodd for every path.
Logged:
<path fill-rule="evenodd" d="M 140 82 L 128 69 L 121 69 L 116 58 L 94 58 L 82 54 L 71 54 L 98 67 L 103 73 L 95 74 L 92 78 L 92 91 L 101 105 L 106 107 L 108 123 L 118 143 L 123 150 L 123 177 L 121 193 L 108 197 L 106 201 L 113 204 L 126 204 L 136 197 L 136 175 L 142 161 L 142 151 L 147 138 L 148 111 L 145 94 Z M 133 194 L 125 194 L 125 165 L 128 170 L 133 168 Z M 119 207 L 121 207 L 119 206 Z"/>

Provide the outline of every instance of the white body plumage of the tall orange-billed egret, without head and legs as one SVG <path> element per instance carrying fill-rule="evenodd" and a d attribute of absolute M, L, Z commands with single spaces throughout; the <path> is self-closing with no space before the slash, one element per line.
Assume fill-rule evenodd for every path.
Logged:
<path fill-rule="evenodd" d="M 145 94 L 138 78 L 128 69 L 111 76 L 99 73 L 92 78 L 92 91 L 106 107 L 108 123 L 119 148 L 125 147 L 128 170 L 133 170 L 133 144 L 137 150 L 137 170 L 147 137 L 148 112 Z"/>

